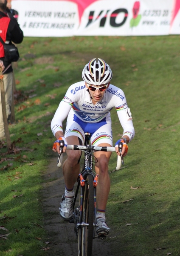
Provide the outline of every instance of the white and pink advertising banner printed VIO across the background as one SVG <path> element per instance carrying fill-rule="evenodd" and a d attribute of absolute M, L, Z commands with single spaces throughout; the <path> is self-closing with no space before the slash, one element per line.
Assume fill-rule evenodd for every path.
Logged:
<path fill-rule="evenodd" d="M 25 36 L 180 34 L 180 0 L 12 0 Z"/>

